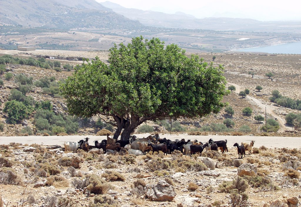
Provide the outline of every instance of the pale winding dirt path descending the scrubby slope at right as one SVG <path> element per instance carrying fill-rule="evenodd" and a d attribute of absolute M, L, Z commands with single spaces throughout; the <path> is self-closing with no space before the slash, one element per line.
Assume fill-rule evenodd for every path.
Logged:
<path fill-rule="evenodd" d="M 230 85 L 234 85 L 236 90 L 235 92 L 238 94 L 241 91 L 241 87 L 235 83 L 228 83 Z M 285 126 L 286 121 L 281 117 L 278 116 L 277 114 L 274 113 L 274 110 L 276 110 L 278 107 L 273 106 L 269 103 L 265 103 L 262 100 L 259 100 L 253 96 L 247 96 L 246 99 L 250 102 L 253 101 L 257 106 L 259 106 L 263 113 L 265 113 L 265 108 L 266 108 L 266 113 L 270 114 L 271 116 L 275 117 L 277 119 L 277 121 L 279 122 L 280 128 L 278 130 L 278 132 L 284 132 L 285 130 L 293 130 L 292 127 L 287 127 Z"/>

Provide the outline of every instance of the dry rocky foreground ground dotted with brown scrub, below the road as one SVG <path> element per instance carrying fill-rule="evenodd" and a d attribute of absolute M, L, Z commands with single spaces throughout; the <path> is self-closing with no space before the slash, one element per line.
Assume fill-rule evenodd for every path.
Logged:
<path fill-rule="evenodd" d="M 269 206 L 278 198 L 271 206 L 288 206 L 287 198 L 296 196 L 289 199 L 293 202 L 301 196 L 296 149 L 260 147 L 237 159 L 233 147 L 225 154 L 209 151 L 190 158 L 18 145 L 0 147 L 4 206 Z M 247 201 L 235 189 L 247 193 Z M 94 204 L 102 195 L 110 205 Z"/>

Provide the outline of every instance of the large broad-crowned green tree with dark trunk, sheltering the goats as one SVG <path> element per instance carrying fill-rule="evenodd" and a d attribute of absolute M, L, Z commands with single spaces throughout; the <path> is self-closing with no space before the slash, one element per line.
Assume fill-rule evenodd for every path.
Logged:
<path fill-rule="evenodd" d="M 171 61 L 172 60 L 172 61 Z M 101 114 L 126 140 L 142 123 L 179 117 L 196 118 L 218 113 L 229 92 L 222 66 L 185 56 L 177 45 L 158 38 L 132 39 L 110 49 L 110 65 L 98 57 L 83 64 L 61 84 L 71 114 Z"/>

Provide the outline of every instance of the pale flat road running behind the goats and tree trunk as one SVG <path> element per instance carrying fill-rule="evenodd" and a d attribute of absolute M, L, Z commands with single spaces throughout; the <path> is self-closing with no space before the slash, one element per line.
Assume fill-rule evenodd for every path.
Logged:
<path fill-rule="evenodd" d="M 142 138 L 146 137 L 149 134 L 135 134 L 137 137 Z M 44 144 L 44 145 L 52 145 L 52 144 L 58 144 L 63 146 L 64 141 L 79 141 L 81 139 L 84 139 L 85 137 L 89 137 L 89 143 L 91 145 L 93 144 L 93 141 L 98 140 L 101 141 L 103 139 L 106 139 L 106 136 L 27 136 L 27 137 L 0 137 L 0 144 L 9 144 L 10 142 L 19 142 L 22 144 Z M 257 137 L 257 136 L 222 136 L 222 135 L 209 135 L 209 136 L 197 136 L 197 135 L 187 135 L 187 134 L 172 134 L 171 136 L 169 134 L 160 135 L 160 138 L 175 140 L 175 139 L 182 139 L 185 140 L 190 139 L 198 141 L 206 142 L 210 138 L 212 138 L 214 141 L 219 140 L 225 140 L 227 139 L 228 143 L 227 146 L 233 147 L 233 144 L 235 142 L 241 143 L 242 141 L 251 141 L 255 140 L 254 147 L 260 147 L 264 145 L 268 148 L 301 148 L 301 137 Z"/>

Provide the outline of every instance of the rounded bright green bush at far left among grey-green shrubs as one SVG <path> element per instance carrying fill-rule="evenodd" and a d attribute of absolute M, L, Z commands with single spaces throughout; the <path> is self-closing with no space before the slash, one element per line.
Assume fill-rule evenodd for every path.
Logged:
<path fill-rule="evenodd" d="M 29 114 L 27 107 L 19 101 L 11 100 L 5 102 L 4 113 L 8 115 L 8 122 L 15 124 L 26 119 Z"/>

